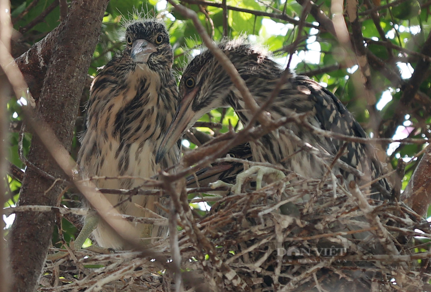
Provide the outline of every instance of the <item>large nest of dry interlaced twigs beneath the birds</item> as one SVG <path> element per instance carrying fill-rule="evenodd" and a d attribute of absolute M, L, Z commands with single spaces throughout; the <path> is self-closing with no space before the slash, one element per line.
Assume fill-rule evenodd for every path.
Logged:
<path fill-rule="evenodd" d="M 354 183 L 274 177 L 264 175 L 261 189 L 171 197 L 182 227 L 173 240 L 47 261 L 39 291 L 428 289 L 430 254 L 417 236 L 431 230 L 406 205 L 369 199 Z M 212 205 L 204 217 L 189 207 L 198 201 Z"/>

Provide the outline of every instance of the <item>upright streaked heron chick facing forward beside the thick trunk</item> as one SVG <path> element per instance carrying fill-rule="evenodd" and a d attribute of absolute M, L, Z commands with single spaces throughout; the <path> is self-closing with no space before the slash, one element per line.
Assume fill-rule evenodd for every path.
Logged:
<path fill-rule="evenodd" d="M 178 163 L 180 157 L 179 144 L 174 143 L 158 164 L 155 161 L 156 150 L 175 114 L 178 94 L 168 32 L 159 21 L 138 21 L 128 25 L 125 41 L 122 55 L 113 58 L 94 78 L 78 154 L 83 178 L 127 177 L 93 180 L 104 189 L 140 186 L 143 181 L 136 177 L 152 177 L 161 168 Z M 133 196 L 131 200 L 105 196 L 114 206 L 122 202 L 116 207 L 122 214 L 153 217 L 150 211 L 160 213 L 155 207 L 156 196 Z M 84 227 L 95 228 L 98 245 L 125 248 L 125 242 L 97 218 L 87 217 Z M 136 238 L 166 235 L 166 228 L 150 224 L 137 224 L 136 231 Z M 78 236 L 77 248 L 88 235 Z"/>

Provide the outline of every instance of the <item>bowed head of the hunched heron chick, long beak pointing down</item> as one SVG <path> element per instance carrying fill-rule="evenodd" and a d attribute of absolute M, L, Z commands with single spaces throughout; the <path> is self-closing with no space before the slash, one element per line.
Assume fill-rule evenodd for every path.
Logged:
<path fill-rule="evenodd" d="M 237 68 L 249 88 L 247 80 L 252 80 L 252 76 L 259 76 L 262 73 L 259 68 L 269 61 L 265 50 L 241 40 L 220 43 L 219 47 Z M 156 161 L 159 161 L 200 117 L 211 109 L 231 106 L 234 95 L 237 95 L 231 78 L 209 50 L 194 57 L 187 65 L 178 89 L 177 112 L 159 147 Z"/>

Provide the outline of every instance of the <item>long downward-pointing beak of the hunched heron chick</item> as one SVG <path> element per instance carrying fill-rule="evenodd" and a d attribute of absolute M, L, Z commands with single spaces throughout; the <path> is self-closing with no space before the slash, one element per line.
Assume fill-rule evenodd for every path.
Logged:
<path fill-rule="evenodd" d="M 156 163 L 160 162 L 163 156 L 165 156 L 166 152 L 168 152 L 168 150 L 171 149 L 175 143 L 177 143 L 178 139 L 180 139 L 181 136 L 196 121 L 196 112 L 191 109 L 191 102 L 193 101 L 196 93 L 197 87 L 184 96 L 184 98 L 181 100 L 181 103 L 178 105 L 174 119 L 172 120 L 172 123 L 159 146 L 159 150 L 157 151 Z"/>

